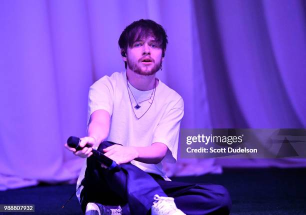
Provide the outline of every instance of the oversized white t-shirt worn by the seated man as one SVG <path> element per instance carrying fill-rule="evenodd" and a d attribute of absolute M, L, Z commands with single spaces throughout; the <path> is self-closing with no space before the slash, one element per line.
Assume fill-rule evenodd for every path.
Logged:
<path fill-rule="evenodd" d="M 177 159 L 179 125 L 184 109 L 183 99 L 160 80 L 155 93 L 153 89 L 141 91 L 130 83 L 128 85 L 132 93 L 128 91 L 126 72 L 114 72 L 94 82 L 89 88 L 88 121 L 92 112 L 103 109 L 109 113 L 111 120 L 108 141 L 123 146 L 150 146 L 154 142 L 164 143 L 168 150 L 161 162 L 147 164 L 132 160 L 131 163 L 145 172 L 159 174 L 167 179 L 162 163 L 175 162 Z M 153 98 L 153 102 L 149 107 L 149 100 L 146 99 L 150 97 Z M 139 103 L 141 107 L 136 109 L 135 99 L 138 102 L 146 101 Z M 143 113 L 144 115 L 139 118 Z M 86 162 L 78 177 L 77 187 L 84 178 L 85 168 Z"/>

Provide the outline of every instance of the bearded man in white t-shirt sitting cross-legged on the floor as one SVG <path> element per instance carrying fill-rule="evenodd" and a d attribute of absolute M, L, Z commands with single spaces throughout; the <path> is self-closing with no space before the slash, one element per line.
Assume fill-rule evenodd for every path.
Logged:
<path fill-rule="evenodd" d="M 126 71 L 104 76 L 89 89 L 88 136 L 81 138 L 80 146 L 91 147 L 75 151 L 65 145 L 87 158 L 77 183 L 82 210 L 228 214 L 231 203 L 224 187 L 170 181 L 162 169 L 164 162 L 176 161 L 183 116 L 181 96 L 155 77 L 166 50 L 165 30 L 140 19 L 123 30 L 118 43 Z M 91 150 L 97 147 L 121 170 L 95 161 Z"/>

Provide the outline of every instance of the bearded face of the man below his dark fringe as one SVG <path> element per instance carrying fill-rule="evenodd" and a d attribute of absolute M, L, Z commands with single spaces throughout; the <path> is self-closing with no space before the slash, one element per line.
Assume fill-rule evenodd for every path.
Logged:
<path fill-rule="evenodd" d="M 154 37 L 140 38 L 131 47 L 127 47 L 127 69 L 141 75 L 152 75 L 160 68 L 163 59 L 161 55 L 162 49 Z"/>

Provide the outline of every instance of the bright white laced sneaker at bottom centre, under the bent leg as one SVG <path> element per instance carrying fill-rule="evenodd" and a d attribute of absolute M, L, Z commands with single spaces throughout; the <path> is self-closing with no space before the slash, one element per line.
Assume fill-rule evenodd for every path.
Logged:
<path fill-rule="evenodd" d="M 151 207 L 152 215 L 186 215 L 180 209 L 177 209 L 174 198 L 154 195 L 154 202 Z"/>

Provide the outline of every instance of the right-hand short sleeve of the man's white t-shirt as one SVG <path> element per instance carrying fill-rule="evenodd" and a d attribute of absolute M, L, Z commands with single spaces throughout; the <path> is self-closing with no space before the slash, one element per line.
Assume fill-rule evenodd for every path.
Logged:
<path fill-rule="evenodd" d="M 184 114 L 183 99 L 180 99 L 165 113 L 157 124 L 152 142 L 161 142 L 168 147 L 163 161 L 173 163 L 177 159 L 180 120 Z"/>

